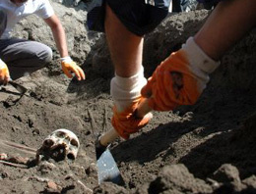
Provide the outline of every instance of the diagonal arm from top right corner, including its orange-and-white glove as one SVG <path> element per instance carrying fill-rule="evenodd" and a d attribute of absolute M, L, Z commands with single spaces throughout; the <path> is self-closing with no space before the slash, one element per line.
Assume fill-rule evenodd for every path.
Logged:
<path fill-rule="evenodd" d="M 194 104 L 224 53 L 255 26 L 255 9 L 256 1 L 220 2 L 195 37 L 166 58 L 149 78 L 142 89 L 149 106 L 170 111 Z"/>

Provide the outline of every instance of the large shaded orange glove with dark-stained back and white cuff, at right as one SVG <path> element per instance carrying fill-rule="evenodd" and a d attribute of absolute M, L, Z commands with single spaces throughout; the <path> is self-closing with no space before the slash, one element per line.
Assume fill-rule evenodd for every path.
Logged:
<path fill-rule="evenodd" d="M 209 58 L 190 37 L 177 52 L 166 58 L 142 89 L 149 106 L 170 111 L 180 105 L 194 104 L 220 63 Z"/>

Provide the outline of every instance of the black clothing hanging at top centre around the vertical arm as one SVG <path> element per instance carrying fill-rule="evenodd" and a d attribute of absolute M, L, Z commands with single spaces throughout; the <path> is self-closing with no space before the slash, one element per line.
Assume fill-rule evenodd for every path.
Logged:
<path fill-rule="evenodd" d="M 109 5 L 118 19 L 131 32 L 143 36 L 154 30 L 167 16 L 170 0 L 155 0 L 154 5 L 145 0 L 105 0 L 88 14 L 89 29 L 104 31 L 104 6 Z"/>

